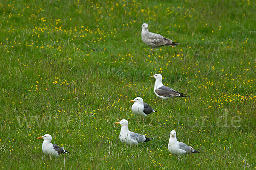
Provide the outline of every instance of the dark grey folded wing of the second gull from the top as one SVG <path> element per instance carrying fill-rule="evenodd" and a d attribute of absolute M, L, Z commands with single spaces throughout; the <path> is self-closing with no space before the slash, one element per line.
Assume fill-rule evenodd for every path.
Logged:
<path fill-rule="evenodd" d="M 174 89 L 166 87 L 164 85 L 156 89 L 155 92 L 159 96 L 164 96 L 164 97 L 189 97 L 189 96 L 186 96 L 186 94 L 184 93 L 180 93 L 179 91 L 175 91 Z"/>

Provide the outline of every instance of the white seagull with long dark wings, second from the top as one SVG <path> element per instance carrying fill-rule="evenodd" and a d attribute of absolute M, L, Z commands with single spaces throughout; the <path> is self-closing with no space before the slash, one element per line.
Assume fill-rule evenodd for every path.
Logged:
<path fill-rule="evenodd" d="M 172 88 L 164 86 L 162 83 L 161 74 L 155 74 L 154 76 L 150 77 L 154 77 L 156 79 L 154 92 L 157 97 L 160 97 L 161 99 L 172 99 L 174 97 L 190 97 L 184 93 L 180 93 L 179 91 L 175 91 Z"/>

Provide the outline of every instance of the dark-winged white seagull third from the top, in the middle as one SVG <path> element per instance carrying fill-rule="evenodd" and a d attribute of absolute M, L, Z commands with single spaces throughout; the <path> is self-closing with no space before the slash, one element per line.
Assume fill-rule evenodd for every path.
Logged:
<path fill-rule="evenodd" d="M 134 104 L 131 106 L 131 111 L 137 116 L 142 116 L 143 118 L 146 118 L 150 113 L 157 112 L 147 103 L 143 103 L 143 99 L 141 97 L 136 97 L 129 102 L 134 102 Z"/>

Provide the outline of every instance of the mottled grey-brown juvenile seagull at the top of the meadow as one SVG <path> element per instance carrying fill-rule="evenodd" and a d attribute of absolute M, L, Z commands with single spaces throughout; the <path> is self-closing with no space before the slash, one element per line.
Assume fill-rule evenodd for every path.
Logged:
<path fill-rule="evenodd" d="M 148 31 L 148 24 L 144 23 L 141 26 L 142 30 L 141 30 L 141 38 L 142 41 L 152 48 L 157 48 L 160 46 L 174 46 L 175 45 L 180 45 L 180 43 L 177 42 L 173 42 L 172 40 L 163 37 L 160 34 L 156 34 L 156 33 L 152 33 Z"/>

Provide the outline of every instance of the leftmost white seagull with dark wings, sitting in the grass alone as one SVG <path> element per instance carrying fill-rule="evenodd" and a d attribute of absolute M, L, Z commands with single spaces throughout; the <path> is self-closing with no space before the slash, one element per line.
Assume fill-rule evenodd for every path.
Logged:
<path fill-rule="evenodd" d="M 46 155 L 52 155 L 58 157 L 61 153 L 69 153 L 67 150 L 64 150 L 63 147 L 59 147 L 57 144 L 52 144 L 52 136 L 45 134 L 44 136 L 38 137 L 38 139 L 44 139 L 42 144 L 43 153 Z"/>

